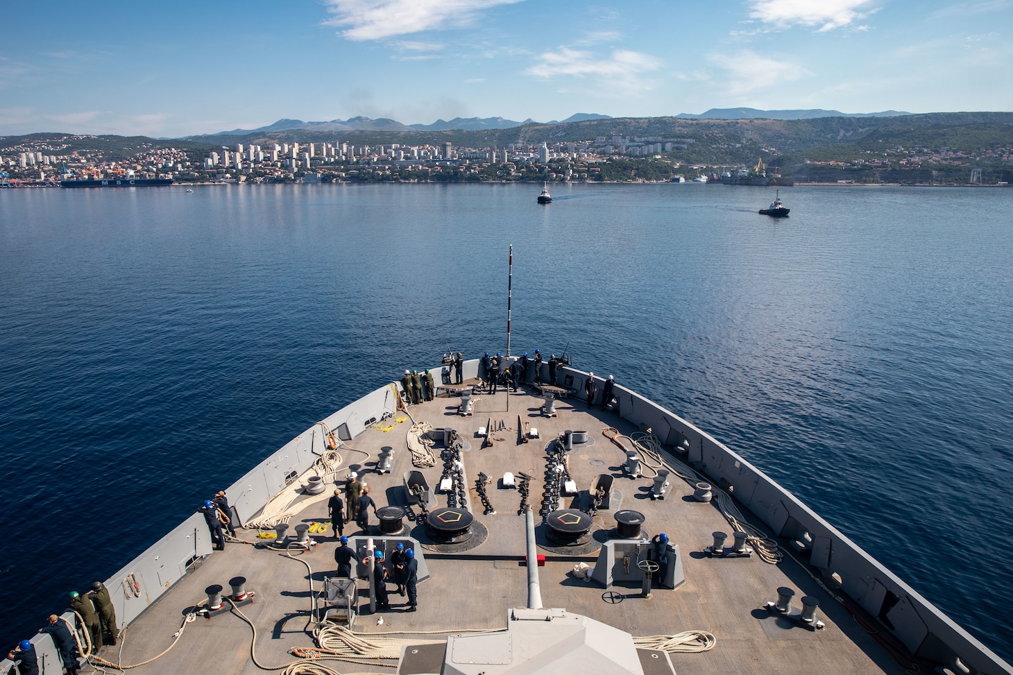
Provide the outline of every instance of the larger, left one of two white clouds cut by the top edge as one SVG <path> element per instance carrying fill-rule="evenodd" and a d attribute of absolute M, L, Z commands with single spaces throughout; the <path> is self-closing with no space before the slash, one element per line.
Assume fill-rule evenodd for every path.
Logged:
<path fill-rule="evenodd" d="M 523 0 L 324 0 L 331 18 L 356 42 L 467 25 L 485 9 Z"/>

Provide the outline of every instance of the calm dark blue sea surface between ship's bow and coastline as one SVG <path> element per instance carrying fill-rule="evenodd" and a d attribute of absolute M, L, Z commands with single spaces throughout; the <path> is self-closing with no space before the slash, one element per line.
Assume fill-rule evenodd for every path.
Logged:
<path fill-rule="evenodd" d="M 0 640 L 448 350 L 648 395 L 1013 659 L 1013 190 L 0 191 Z"/>

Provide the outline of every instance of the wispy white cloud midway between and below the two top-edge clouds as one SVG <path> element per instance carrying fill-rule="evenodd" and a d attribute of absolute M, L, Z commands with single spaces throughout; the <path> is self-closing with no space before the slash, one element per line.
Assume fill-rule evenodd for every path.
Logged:
<path fill-rule="evenodd" d="M 608 79 L 619 88 L 650 88 L 650 83 L 640 80 L 639 75 L 661 67 L 654 57 L 630 50 L 613 50 L 605 56 L 587 50 L 560 47 L 555 52 L 545 52 L 538 57 L 538 63 L 525 71 L 528 75 L 542 80 L 556 77 L 587 77 Z"/>

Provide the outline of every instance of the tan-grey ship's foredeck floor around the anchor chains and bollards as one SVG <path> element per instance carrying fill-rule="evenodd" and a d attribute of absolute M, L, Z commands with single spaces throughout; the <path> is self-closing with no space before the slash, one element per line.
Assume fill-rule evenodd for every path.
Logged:
<path fill-rule="evenodd" d="M 432 402 L 411 406 L 409 413 L 416 422 L 452 427 L 471 442 L 471 449 L 464 453 L 470 488 L 468 507 L 475 519 L 488 529 L 488 537 L 480 546 L 468 551 L 465 558 L 426 557 L 431 578 L 418 586 L 417 612 L 404 613 L 398 604 L 404 599 L 392 594 L 393 610 L 382 614 L 384 624 L 377 625 L 376 616 L 362 616 L 358 630 L 504 628 L 508 609 L 523 607 L 527 601 L 527 571 L 519 562 L 525 553 L 525 525 L 524 518 L 518 515 L 518 492 L 497 490 L 495 480 L 504 471 L 515 474 L 524 471 L 534 476 L 530 503 L 537 514 L 546 445 L 564 430 L 586 430 L 594 443 L 580 447 L 570 457 L 570 471 L 577 488 L 587 491 L 599 473 L 611 472 L 617 476 L 615 488 L 622 494 L 619 508 L 640 511 L 646 516 L 645 528 L 650 534 L 666 532 L 672 542 L 680 546 L 686 583 L 675 590 L 655 589 L 650 599 L 639 597 L 639 588 L 615 587 L 613 590 L 624 598 L 621 602 L 610 603 L 604 599 L 605 589 L 600 585 L 576 580 L 569 574 L 572 560 L 549 559 L 540 569 L 541 593 L 546 607 L 563 607 L 586 614 L 633 635 L 689 629 L 712 632 L 717 639 L 712 651 L 672 655 L 672 662 L 680 674 L 905 672 L 845 608 L 790 559 L 773 566 L 756 556 L 712 559 L 702 555 L 700 551 L 711 543 L 711 532 L 723 530 L 730 534 L 727 522 L 715 506 L 693 501 L 692 486 L 676 476 L 671 477 L 671 492 L 664 501 L 647 498 L 652 483 L 649 477 L 637 480 L 621 477 L 623 452 L 606 439 L 602 431 L 609 426 L 627 435 L 638 430 L 623 423 L 618 416 L 589 410 L 577 397 L 557 401 L 558 417 L 546 419 L 540 415 L 540 396 L 524 391 L 506 394 L 500 390 L 495 395 L 477 395 L 474 415 L 465 418 L 457 415 L 459 400 L 442 395 Z M 517 444 L 519 415 L 539 429 L 540 440 Z M 404 416 L 397 416 L 401 417 Z M 481 449 L 475 431 L 484 427 L 489 418 L 494 426 L 501 421 L 509 429 L 493 432 L 493 447 Z M 387 432 L 370 428 L 354 439 L 350 445 L 369 452 L 369 458 L 357 452 L 339 451 L 346 466 L 361 473 L 365 471 L 365 479 L 372 488 L 378 507 L 388 503 L 403 504 L 401 477 L 411 468 L 405 446 L 405 433 L 410 424 L 402 422 Z M 392 471 L 381 475 L 373 469 L 383 447 L 393 447 L 396 459 Z M 442 469 L 440 462 L 420 470 L 435 489 Z M 489 499 L 496 515 L 482 515 L 481 504 L 474 494 L 474 480 L 479 471 L 493 480 Z M 342 470 L 342 483 L 343 475 Z M 441 496 L 439 503 L 445 505 L 446 498 Z M 324 502 L 316 502 L 291 524 L 325 519 L 324 505 Z M 564 498 L 560 506 L 569 506 L 569 500 Z M 602 529 L 613 527 L 614 510 L 600 512 L 595 518 L 596 525 Z M 415 513 L 418 513 L 417 508 Z M 536 516 L 537 522 L 540 518 Z M 345 528 L 345 534 L 357 531 L 354 523 Z M 239 534 L 248 541 L 256 540 L 254 532 L 240 530 Z M 315 538 L 320 545 L 301 557 L 312 568 L 313 587 L 319 591 L 323 577 L 334 573 L 335 539 L 329 529 L 326 535 Z M 539 539 L 542 542 L 542 534 Z M 597 550 L 590 555 L 597 555 Z M 292 648 L 313 645 L 308 633 L 310 582 L 304 565 L 289 559 L 284 553 L 231 543 L 225 551 L 213 553 L 192 574 L 179 581 L 131 625 L 121 646 L 105 648 L 101 656 L 123 664 L 150 659 L 172 643 L 173 633 L 178 630 L 187 610 L 206 597 L 206 587 L 221 584 L 228 593 L 228 580 L 237 575 L 246 577 L 247 589 L 257 594 L 256 601 L 242 611 L 256 626 L 254 644 L 261 664 L 281 666 L 294 660 L 288 654 Z M 795 590 L 796 604 L 803 595 L 819 598 L 819 616 L 826 621 L 826 629 L 812 632 L 762 609 L 765 602 L 776 599 L 776 589 L 781 586 Z M 168 654 L 139 670 L 251 675 L 259 672 L 250 661 L 252 638 L 250 626 L 234 614 L 199 618 L 187 624 L 179 643 Z M 325 665 L 341 672 L 378 670 L 375 666 L 336 661 L 325 662 Z M 580 671 L 577 664 L 573 671 Z"/>

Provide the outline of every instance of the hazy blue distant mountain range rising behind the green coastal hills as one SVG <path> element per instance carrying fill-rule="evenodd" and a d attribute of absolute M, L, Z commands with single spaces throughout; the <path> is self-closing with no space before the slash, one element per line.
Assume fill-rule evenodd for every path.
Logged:
<path fill-rule="evenodd" d="M 895 118 L 911 113 L 885 110 L 883 113 L 847 114 L 838 110 L 758 110 L 754 107 L 712 107 L 702 115 L 680 113 L 674 116 L 682 120 L 815 120 L 819 118 Z M 266 134 L 270 132 L 305 130 L 311 132 L 410 132 L 410 131 L 486 131 L 491 129 L 513 129 L 531 124 L 562 125 L 569 122 L 588 122 L 592 120 L 612 120 L 608 115 L 594 113 L 577 113 L 565 120 L 550 120 L 535 122 L 528 118 L 524 122 L 506 120 L 504 118 L 454 118 L 453 120 L 437 120 L 431 125 L 404 125 L 396 120 L 379 118 L 349 118 L 347 120 L 330 120 L 328 122 L 303 122 L 302 120 L 279 120 L 272 125 L 258 129 L 233 129 L 218 132 L 211 136 L 246 136 L 248 134 Z"/>

